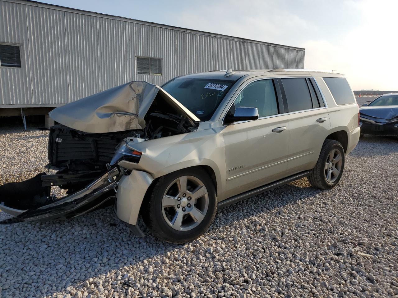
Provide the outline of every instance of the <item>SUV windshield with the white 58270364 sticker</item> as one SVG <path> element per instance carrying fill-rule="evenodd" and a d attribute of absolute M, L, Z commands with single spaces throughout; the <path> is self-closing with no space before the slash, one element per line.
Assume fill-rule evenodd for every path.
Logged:
<path fill-rule="evenodd" d="M 174 79 L 162 88 L 201 121 L 207 121 L 234 83 L 215 79 Z"/>

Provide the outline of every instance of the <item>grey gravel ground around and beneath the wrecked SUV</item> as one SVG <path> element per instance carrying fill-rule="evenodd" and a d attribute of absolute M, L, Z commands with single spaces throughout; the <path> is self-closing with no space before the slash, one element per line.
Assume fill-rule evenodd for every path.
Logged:
<path fill-rule="evenodd" d="M 43 170 L 47 134 L 1 129 L 0 184 Z M 395 140 L 365 136 L 333 190 L 254 196 L 185 245 L 137 238 L 111 207 L 1 226 L 0 297 L 397 297 L 397 160 Z"/>

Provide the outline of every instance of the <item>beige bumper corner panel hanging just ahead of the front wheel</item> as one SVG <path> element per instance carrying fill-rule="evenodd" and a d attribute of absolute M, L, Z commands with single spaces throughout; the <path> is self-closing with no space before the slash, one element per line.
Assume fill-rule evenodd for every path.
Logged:
<path fill-rule="evenodd" d="M 119 219 L 137 224 L 142 200 L 153 180 L 150 174 L 139 170 L 133 170 L 120 179 L 116 194 L 116 215 Z"/>

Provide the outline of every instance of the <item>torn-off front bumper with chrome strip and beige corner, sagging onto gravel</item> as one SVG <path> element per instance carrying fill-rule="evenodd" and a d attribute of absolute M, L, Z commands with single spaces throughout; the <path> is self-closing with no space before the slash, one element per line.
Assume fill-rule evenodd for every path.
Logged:
<path fill-rule="evenodd" d="M 120 164 L 127 169 L 132 165 L 128 161 L 122 161 Z M 137 236 L 143 236 L 137 226 L 137 221 L 142 201 L 154 178 L 139 170 L 122 174 L 123 170 L 123 167 L 111 168 L 84 189 L 35 209 L 19 210 L 0 204 L 2 211 L 15 216 L 0 221 L 0 224 L 70 219 L 92 211 L 109 199 L 116 199 L 117 217 L 129 224 L 130 229 Z"/>

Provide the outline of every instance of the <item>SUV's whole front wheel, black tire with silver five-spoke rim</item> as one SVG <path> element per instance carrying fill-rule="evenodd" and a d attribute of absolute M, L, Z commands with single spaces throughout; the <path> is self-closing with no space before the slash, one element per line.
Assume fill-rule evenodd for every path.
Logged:
<path fill-rule="evenodd" d="M 184 185 L 184 177 L 186 188 L 180 186 Z M 195 167 L 159 178 L 143 204 L 146 206 L 142 217 L 152 234 L 161 240 L 182 244 L 207 231 L 216 215 L 217 196 L 209 174 Z"/>

